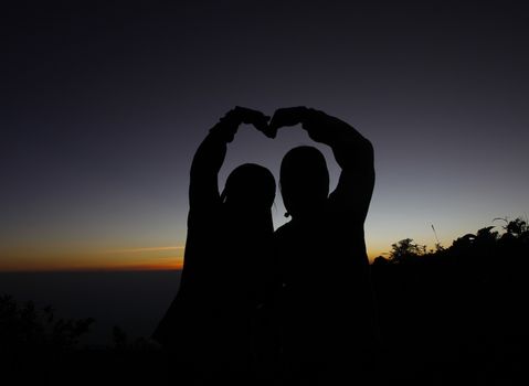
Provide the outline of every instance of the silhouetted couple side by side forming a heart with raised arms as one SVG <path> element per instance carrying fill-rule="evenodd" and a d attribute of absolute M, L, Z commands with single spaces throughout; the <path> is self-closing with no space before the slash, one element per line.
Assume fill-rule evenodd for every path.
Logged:
<path fill-rule="evenodd" d="M 292 219 L 275 233 L 273 174 L 243 164 L 219 192 L 226 143 L 241 124 L 269 138 L 298 124 L 332 149 L 329 172 L 314 147 L 281 165 Z M 373 149 L 355 128 L 306 107 L 272 119 L 236 107 L 200 144 L 179 292 L 154 337 L 184 385 L 335 385 L 366 377 L 375 346 L 374 303 L 363 223 L 374 184 Z M 169 363 L 171 366 L 171 362 Z"/>

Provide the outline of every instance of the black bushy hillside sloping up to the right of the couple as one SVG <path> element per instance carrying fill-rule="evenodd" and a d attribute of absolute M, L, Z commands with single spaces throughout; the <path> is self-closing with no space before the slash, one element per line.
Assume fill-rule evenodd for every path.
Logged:
<path fill-rule="evenodd" d="M 373 261 L 391 358 L 382 367 L 417 385 L 432 383 L 432 374 L 436 384 L 528 380 L 525 224 L 516 218 L 502 234 L 487 226 L 412 259 Z"/>

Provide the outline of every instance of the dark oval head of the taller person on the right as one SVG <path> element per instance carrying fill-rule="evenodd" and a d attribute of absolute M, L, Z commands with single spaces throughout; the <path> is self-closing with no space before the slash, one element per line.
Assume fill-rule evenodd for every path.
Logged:
<path fill-rule="evenodd" d="M 283 202 L 293 218 L 321 208 L 329 195 L 329 171 L 324 154 L 309 146 L 289 150 L 281 164 L 279 184 Z"/>

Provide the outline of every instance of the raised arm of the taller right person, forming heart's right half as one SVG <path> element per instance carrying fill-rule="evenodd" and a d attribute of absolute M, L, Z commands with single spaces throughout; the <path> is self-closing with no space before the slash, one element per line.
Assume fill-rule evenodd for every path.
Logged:
<path fill-rule="evenodd" d="M 297 124 L 301 124 L 313 140 L 329 146 L 341 168 L 338 185 L 329 195 L 331 205 L 364 219 L 374 186 L 371 142 L 345 121 L 306 107 L 278 109 L 272 118 L 271 131 Z"/>

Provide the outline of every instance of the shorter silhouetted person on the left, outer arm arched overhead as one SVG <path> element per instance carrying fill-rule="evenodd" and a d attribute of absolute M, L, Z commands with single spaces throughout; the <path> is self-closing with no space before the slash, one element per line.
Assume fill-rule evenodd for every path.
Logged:
<path fill-rule="evenodd" d="M 246 108 L 229 111 L 192 162 L 180 289 L 154 334 L 179 364 L 173 377 L 182 385 L 256 384 L 271 352 L 261 313 L 274 277 L 275 180 L 266 168 L 246 163 L 229 175 L 222 194 L 218 186 L 226 143 L 239 126 L 266 132 L 268 119 Z"/>

